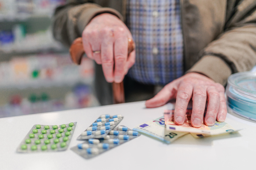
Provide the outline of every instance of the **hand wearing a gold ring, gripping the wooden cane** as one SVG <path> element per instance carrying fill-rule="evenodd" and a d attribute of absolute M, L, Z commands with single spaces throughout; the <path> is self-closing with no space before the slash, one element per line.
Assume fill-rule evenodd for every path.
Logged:
<path fill-rule="evenodd" d="M 94 17 L 84 28 L 84 51 L 87 57 L 102 65 L 107 82 L 122 82 L 128 69 L 134 65 L 135 50 L 128 55 L 129 38 L 132 39 L 131 32 L 125 24 L 108 13 Z"/>

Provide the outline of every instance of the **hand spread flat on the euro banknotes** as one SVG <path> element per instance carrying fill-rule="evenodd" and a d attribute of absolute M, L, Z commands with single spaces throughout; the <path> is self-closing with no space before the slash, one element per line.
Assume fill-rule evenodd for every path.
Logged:
<path fill-rule="evenodd" d="M 157 95 L 147 100 L 145 105 L 147 108 L 156 108 L 165 105 L 170 99 L 176 99 L 174 119 L 177 125 L 182 125 L 189 100 L 192 98 L 192 126 L 201 127 L 203 121 L 207 126 L 212 126 L 216 119 L 218 122 L 224 122 L 226 119 L 224 92 L 223 85 L 212 79 L 199 73 L 188 73 L 167 84 Z M 206 101 L 208 104 L 204 118 Z"/>

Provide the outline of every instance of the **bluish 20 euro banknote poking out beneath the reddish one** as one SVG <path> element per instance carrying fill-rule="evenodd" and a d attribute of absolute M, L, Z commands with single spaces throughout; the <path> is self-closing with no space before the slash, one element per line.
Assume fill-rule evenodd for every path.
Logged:
<path fill-rule="evenodd" d="M 172 132 L 166 130 L 164 116 L 141 123 L 140 125 L 134 127 L 133 130 L 143 133 L 146 136 L 153 137 L 154 139 L 158 139 L 167 144 L 175 141 L 181 136 L 188 134 L 188 132 Z"/>

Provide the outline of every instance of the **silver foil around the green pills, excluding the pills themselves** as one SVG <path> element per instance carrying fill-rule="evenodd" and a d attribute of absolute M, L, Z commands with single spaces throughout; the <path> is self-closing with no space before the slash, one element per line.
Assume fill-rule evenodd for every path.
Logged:
<path fill-rule="evenodd" d="M 41 128 L 39 128 L 39 129 L 37 129 L 36 128 L 36 125 L 34 125 L 32 128 L 31 128 L 31 130 L 29 130 L 29 133 L 25 136 L 25 138 L 22 140 L 22 142 L 20 143 L 20 145 L 17 147 L 17 152 L 18 153 L 35 153 L 35 152 L 56 152 L 56 151 L 64 151 L 64 150 L 67 150 L 67 148 L 69 147 L 69 144 L 70 144 L 70 141 L 71 141 L 71 139 L 72 139 L 72 136 L 73 136 L 73 134 L 74 134 L 74 131 L 75 131 L 75 129 L 76 129 L 76 124 L 77 124 L 77 122 L 73 122 L 73 126 L 71 126 L 72 127 L 72 130 L 70 130 L 70 131 L 68 131 L 67 130 L 67 128 L 68 127 L 70 127 L 69 126 L 69 124 L 62 124 L 62 125 L 66 125 L 66 127 L 64 127 L 64 128 L 61 128 L 61 125 L 58 125 L 58 128 L 56 128 L 56 129 L 53 129 L 52 127 L 53 126 L 55 126 L 55 125 L 41 125 Z M 40 125 L 40 124 L 37 124 L 37 125 Z M 44 129 L 44 126 L 49 126 L 49 129 Z M 34 129 L 37 129 L 38 130 L 38 133 L 33 133 L 33 130 Z M 59 129 L 63 129 L 63 132 L 61 133 L 61 137 L 57 137 L 56 135 L 59 133 Z M 46 130 L 47 132 L 46 133 L 42 133 L 41 131 L 42 130 Z M 51 139 L 48 139 L 48 135 L 49 134 L 51 134 L 50 133 L 50 130 L 55 130 L 55 133 L 53 133 L 52 134 L 52 138 Z M 70 132 L 70 135 L 69 136 L 66 136 L 65 135 L 65 133 L 66 132 Z M 34 138 L 30 138 L 29 137 L 29 134 L 34 134 L 35 135 L 35 137 Z M 44 135 L 44 138 L 43 139 L 39 139 L 39 135 Z M 67 141 L 64 141 L 63 139 L 64 139 L 64 137 L 67 137 L 68 138 L 68 140 Z M 66 138 L 66 139 L 67 139 Z M 30 139 L 31 140 L 31 143 L 26 143 L 26 139 Z M 59 139 L 59 142 L 58 143 L 55 143 L 54 142 L 54 140 L 55 139 Z M 40 140 L 41 141 L 41 143 L 40 144 L 35 144 L 35 141 L 36 140 Z M 45 144 L 44 143 L 44 141 L 45 140 L 49 140 L 50 142 L 49 142 L 49 144 Z M 64 146 L 64 147 L 61 147 L 61 143 L 62 142 L 65 142 L 66 143 L 66 146 Z M 55 148 L 55 149 L 52 149 L 51 148 L 51 146 L 53 145 L 53 144 L 56 144 L 57 145 L 57 147 Z M 26 145 L 27 146 L 27 148 L 26 148 L 26 150 L 24 150 L 24 149 L 21 149 L 21 146 L 22 145 Z M 37 147 L 37 149 L 36 150 L 31 150 L 31 147 L 32 146 L 36 146 Z M 46 146 L 47 147 L 47 149 L 46 150 L 42 150 L 41 148 L 42 148 L 42 146 Z M 45 149 L 45 147 L 44 147 L 44 149 Z"/>

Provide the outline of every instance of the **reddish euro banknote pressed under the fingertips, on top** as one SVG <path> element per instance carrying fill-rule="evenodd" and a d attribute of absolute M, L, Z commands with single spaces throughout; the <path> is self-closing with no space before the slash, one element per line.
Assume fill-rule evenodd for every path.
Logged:
<path fill-rule="evenodd" d="M 220 135 L 224 133 L 233 133 L 239 130 L 235 130 L 231 125 L 226 122 L 217 122 L 213 126 L 207 126 L 202 122 L 201 127 L 193 127 L 191 125 L 191 114 L 192 109 L 188 109 L 183 125 L 176 125 L 174 122 L 174 110 L 165 110 L 164 119 L 166 124 L 166 129 L 172 132 L 189 132 L 195 138 L 200 138 L 204 136 Z"/>

